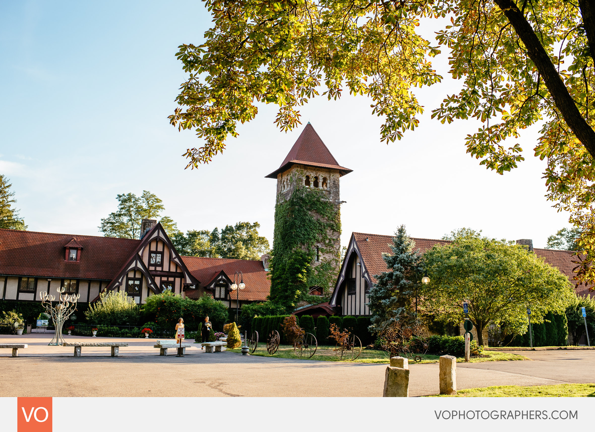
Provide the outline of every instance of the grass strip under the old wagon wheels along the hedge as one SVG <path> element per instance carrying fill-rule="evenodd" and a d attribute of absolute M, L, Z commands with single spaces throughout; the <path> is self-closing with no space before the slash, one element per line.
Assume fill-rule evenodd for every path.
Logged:
<path fill-rule="evenodd" d="M 319 345 L 316 353 L 310 360 L 320 361 L 341 361 L 334 350 L 334 345 Z M 229 349 L 231 352 L 241 352 L 239 348 Z M 274 355 L 269 355 L 267 352 L 267 346 L 265 343 L 258 343 L 258 349 L 252 355 L 258 355 L 262 357 L 276 357 L 276 358 L 293 358 L 299 359 L 293 350 L 291 345 L 279 345 L 279 350 Z M 425 354 L 422 356 L 421 362 L 418 363 L 437 363 L 440 356 Z M 527 357 L 517 354 L 497 352 L 497 351 L 484 351 L 484 356 L 471 358 L 471 362 L 490 362 L 490 361 L 502 361 L 502 360 L 529 360 Z M 347 361 L 343 359 L 343 361 Z M 456 359 L 458 363 L 464 362 L 464 357 Z M 375 349 L 363 349 L 359 357 L 355 360 L 356 363 L 388 363 L 389 358 L 386 353 L 381 350 Z M 414 361 L 410 361 L 409 364 L 416 364 Z"/>

